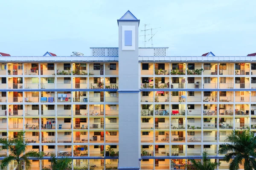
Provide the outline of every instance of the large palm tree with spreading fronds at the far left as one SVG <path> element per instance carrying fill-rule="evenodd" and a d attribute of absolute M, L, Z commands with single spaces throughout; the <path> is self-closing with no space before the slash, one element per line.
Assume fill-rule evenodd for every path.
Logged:
<path fill-rule="evenodd" d="M 43 158 L 43 152 L 37 151 L 26 151 L 26 147 L 28 143 L 24 140 L 24 131 L 20 131 L 17 133 L 17 138 L 9 139 L 1 138 L 0 143 L 10 151 L 10 155 L 5 157 L 0 164 L 0 168 L 6 168 L 13 160 L 17 161 L 17 168 L 16 170 L 23 170 L 23 165 L 25 170 L 29 170 L 31 167 L 31 162 L 29 158 Z"/>

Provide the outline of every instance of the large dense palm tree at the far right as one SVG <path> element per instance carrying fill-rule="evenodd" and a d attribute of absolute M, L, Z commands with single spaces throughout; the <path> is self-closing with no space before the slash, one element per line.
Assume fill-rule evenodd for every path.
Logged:
<path fill-rule="evenodd" d="M 244 170 L 256 170 L 256 136 L 250 128 L 244 131 L 233 130 L 227 136 L 227 142 L 221 145 L 219 153 L 226 154 L 224 160 L 230 163 L 230 170 L 239 170 L 244 165 Z"/>

